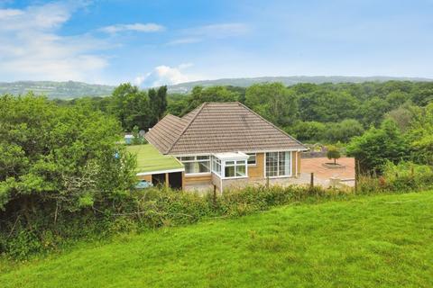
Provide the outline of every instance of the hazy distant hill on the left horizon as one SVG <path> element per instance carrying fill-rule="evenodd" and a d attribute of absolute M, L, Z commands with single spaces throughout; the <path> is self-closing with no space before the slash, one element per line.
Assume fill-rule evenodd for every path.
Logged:
<path fill-rule="evenodd" d="M 0 94 L 44 94 L 50 98 L 72 99 L 83 96 L 106 96 L 113 92 L 115 86 L 96 85 L 83 82 L 55 81 L 17 81 L 0 82 Z"/>

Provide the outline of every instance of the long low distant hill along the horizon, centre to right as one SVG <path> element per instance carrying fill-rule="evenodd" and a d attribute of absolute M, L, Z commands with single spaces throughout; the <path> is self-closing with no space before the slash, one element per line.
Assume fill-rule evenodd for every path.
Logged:
<path fill-rule="evenodd" d="M 203 80 L 180 83 L 177 85 L 170 85 L 170 93 L 188 93 L 196 85 L 202 86 L 212 86 L 212 85 L 234 85 L 247 87 L 256 83 L 265 82 L 281 82 L 284 85 L 295 85 L 298 83 L 361 83 L 361 82 L 384 82 L 384 81 L 433 81 L 433 79 L 428 78 L 412 78 L 412 77 L 392 77 L 392 76 L 265 76 L 265 77 L 254 77 L 254 78 L 224 78 L 217 80 Z"/>

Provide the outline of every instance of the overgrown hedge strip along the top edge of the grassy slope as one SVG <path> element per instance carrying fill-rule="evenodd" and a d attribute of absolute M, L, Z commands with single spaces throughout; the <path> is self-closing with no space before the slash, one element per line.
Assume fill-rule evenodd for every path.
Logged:
<path fill-rule="evenodd" d="M 160 188 L 134 191 L 115 209 L 94 205 L 79 212 L 63 213 L 57 222 L 53 222 L 51 214 L 39 211 L 32 228 L 14 228 L 14 221 L 10 221 L 0 235 L 0 249 L 19 259 L 61 249 L 81 238 L 105 240 L 118 233 L 188 225 L 207 218 L 238 217 L 289 203 L 346 199 L 356 194 L 407 193 L 433 187 L 433 172 L 428 166 L 388 164 L 384 171 L 379 178 L 361 177 L 356 193 L 351 188 L 295 185 L 251 186 L 204 196 Z"/>

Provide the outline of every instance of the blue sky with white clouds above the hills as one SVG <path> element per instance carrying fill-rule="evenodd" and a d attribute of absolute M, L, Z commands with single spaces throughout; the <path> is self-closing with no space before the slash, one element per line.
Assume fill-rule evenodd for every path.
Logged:
<path fill-rule="evenodd" d="M 0 0 L 0 82 L 433 78 L 433 0 Z"/>

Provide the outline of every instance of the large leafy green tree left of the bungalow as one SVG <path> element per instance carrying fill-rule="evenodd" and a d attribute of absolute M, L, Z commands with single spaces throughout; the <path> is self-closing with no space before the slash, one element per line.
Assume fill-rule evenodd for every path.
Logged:
<path fill-rule="evenodd" d="M 0 211 L 32 226 L 41 213 L 118 209 L 135 178 L 134 157 L 115 144 L 120 133 L 118 121 L 85 104 L 1 96 Z"/>

